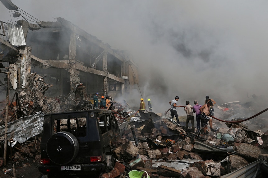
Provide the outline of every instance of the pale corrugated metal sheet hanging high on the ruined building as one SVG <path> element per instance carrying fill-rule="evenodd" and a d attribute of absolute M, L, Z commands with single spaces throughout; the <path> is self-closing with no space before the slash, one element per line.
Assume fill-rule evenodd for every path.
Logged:
<path fill-rule="evenodd" d="M 7 23 L 9 43 L 12 46 L 25 46 L 25 38 L 20 25 Z"/>

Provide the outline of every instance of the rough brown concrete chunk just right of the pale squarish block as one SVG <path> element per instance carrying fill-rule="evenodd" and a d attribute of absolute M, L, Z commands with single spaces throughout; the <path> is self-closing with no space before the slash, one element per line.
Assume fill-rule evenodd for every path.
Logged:
<path fill-rule="evenodd" d="M 243 166 L 248 164 L 247 160 L 239 155 L 230 155 L 228 159 L 228 164 L 225 167 L 227 173 L 233 172 Z"/>

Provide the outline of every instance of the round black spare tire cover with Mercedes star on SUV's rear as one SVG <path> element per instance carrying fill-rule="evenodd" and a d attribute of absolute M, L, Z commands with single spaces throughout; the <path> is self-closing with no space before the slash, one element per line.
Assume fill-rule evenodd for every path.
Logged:
<path fill-rule="evenodd" d="M 58 132 L 52 135 L 46 145 L 49 159 L 56 164 L 70 163 L 78 154 L 79 144 L 70 132 Z"/>

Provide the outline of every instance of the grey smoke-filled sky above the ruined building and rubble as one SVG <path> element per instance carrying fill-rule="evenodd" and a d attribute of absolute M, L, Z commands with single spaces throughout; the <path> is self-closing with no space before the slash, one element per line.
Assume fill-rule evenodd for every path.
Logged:
<path fill-rule="evenodd" d="M 157 113 L 177 95 L 178 105 L 203 105 L 208 95 L 220 106 L 268 94 L 268 1 L 12 2 L 40 21 L 62 17 L 112 49 L 129 51 L 139 69 L 141 93 L 128 98 L 135 106 L 150 98 Z M 0 20 L 10 22 L 10 13 L 0 3 Z"/>

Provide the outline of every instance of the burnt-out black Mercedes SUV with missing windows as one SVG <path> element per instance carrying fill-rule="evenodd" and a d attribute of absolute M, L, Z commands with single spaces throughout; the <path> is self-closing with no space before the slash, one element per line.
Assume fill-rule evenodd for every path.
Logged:
<path fill-rule="evenodd" d="M 117 121 L 107 109 L 44 115 L 38 169 L 48 177 L 111 171 L 118 138 Z"/>

